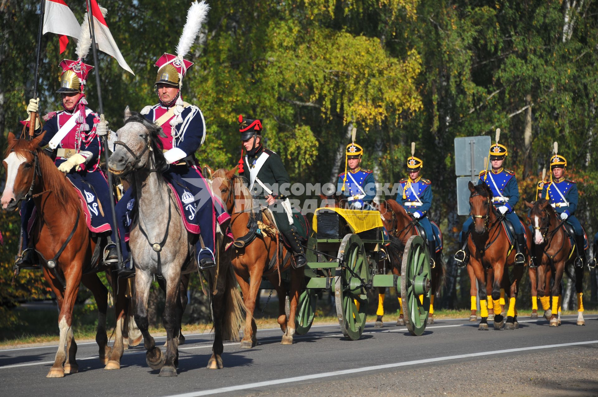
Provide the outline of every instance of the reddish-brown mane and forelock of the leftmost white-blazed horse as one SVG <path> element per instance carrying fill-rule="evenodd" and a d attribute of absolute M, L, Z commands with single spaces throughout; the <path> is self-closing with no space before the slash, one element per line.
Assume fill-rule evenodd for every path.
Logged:
<path fill-rule="evenodd" d="M 31 155 L 29 146 L 30 141 L 26 139 L 9 140 L 7 155 L 9 152 L 14 151 L 17 155 L 26 158 L 28 155 Z M 58 168 L 56 168 L 56 165 L 50 156 L 48 156 L 41 147 L 36 147 L 35 152 L 38 155 L 39 168 L 42 173 L 44 185 L 47 190 L 51 190 L 51 193 L 49 194 L 54 195 L 54 198 L 56 198 L 56 200 L 64 207 L 77 210 L 81 205 L 79 196 L 75 193 L 71 183 L 66 179 L 65 174 L 61 173 Z"/>

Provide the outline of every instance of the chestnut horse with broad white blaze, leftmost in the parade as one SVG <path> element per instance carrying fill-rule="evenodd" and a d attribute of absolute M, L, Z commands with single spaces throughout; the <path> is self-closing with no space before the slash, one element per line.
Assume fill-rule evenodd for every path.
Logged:
<path fill-rule="evenodd" d="M 71 325 L 81 282 L 93 293 L 97 303 L 96 341 L 100 361 L 106 364 L 107 370 L 118 369 L 123 355 L 123 324 L 129 308 L 124 296 L 127 290 L 126 279 L 120 279 L 118 285 L 113 284 L 118 295 L 115 302 L 117 327 L 111 349 L 106 337 L 108 290 L 96 274 L 100 270 L 108 271 L 109 268 L 97 267 L 97 257 L 92 263 L 97 236 L 92 235 L 87 228 L 74 187 L 39 148 L 44 134 L 45 132 L 33 140 L 16 139 L 14 134 L 8 134 L 8 150 L 2 162 L 7 170 L 2 208 L 16 210 L 23 200 L 32 198 L 38 213 L 38 221 L 31 232 L 33 248 L 44 264 L 44 278 L 56 294 L 60 308 L 60 341 L 54 365 L 47 377 L 63 377 L 65 374 L 78 372 L 75 361 L 77 343 L 73 338 Z"/>

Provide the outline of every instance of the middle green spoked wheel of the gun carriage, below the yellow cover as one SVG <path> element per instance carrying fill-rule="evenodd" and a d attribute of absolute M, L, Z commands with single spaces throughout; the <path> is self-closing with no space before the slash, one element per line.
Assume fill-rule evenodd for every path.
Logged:
<path fill-rule="evenodd" d="M 341 261 L 334 284 L 338 324 L 347 339 L 358 340 L 365 328 L 372 277 L 361 238 L 356 234 L 344 236 L 338 257 Z"/>

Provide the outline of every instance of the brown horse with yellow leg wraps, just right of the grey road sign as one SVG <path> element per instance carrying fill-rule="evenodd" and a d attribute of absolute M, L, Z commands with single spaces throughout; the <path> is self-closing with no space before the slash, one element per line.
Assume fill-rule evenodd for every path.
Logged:
<path fill-rule="evenodd" d="M 518 328 L 517 311 L 515 309 L 515 298 L 519 290 L 519 282 L 523 276 L 523 266 L 514 266 L 515 251 L 511 250 L 511 243 L 507 230 L 502 227 L 502 217 L 499 217 L 495 207 L 492 205 L 492 191 L 486 184 L 474 186 L 469 182 L 469 205 L 471 216 L 474 218 L 474 230 L 468 236 L 468 248 L 471 253 L 469 263 L 473 267 L 475 278 L 480 285 L 480 307 L 481 322 L 480 330 L 488 330 L 488 307 L 487 296 L 492 295 L 494 306 L 494 327 L 501 329 L 504 324 L 504 317 L 501 315 L 501 287 L 508 291 L 509 309 L 507 312 L 507 324 L 505 329 L 514 330 Z M 527 252 L 530 252 L 531 236 L 527 233 Z M 529 257 L 528 257 L 529 259 Z M 513 281 L 509 281 L 508 267 L 513 267 Z M 487 282 L 486 269 L 492 269 L 493 282 Z M 507 271 L 505 271 L 507 270 Z"/>

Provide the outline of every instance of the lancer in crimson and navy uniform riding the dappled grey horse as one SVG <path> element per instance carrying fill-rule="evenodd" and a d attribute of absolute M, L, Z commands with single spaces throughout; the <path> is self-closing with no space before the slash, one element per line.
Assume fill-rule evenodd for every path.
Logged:
<path fill-rule="evenodd" d="M 169 168 L 162 176 L 175 193 L 185 228 L 200 236 L 195 246 L 196 260 L 199 269 L 204 270 L 216 266 L 215 223 L 221 224 L 221 230 L 225 230 L 230 215 L 221 201 L 213 197 L 195 157 L 206 139 L 206 123 L 199 107 L 181 98 L 182 80 L 192 65 L 182 56 L 164 53 L 155 63 L 159 68 L 154 83 L 158 103 L 145 106 L 141 114 L 161 127 L 166 136 L 160 137 L 160 140 Z M 134 197 L 132 189 L 128 189 L 117 204 L 121 233 L 128 232 L 135 207 Z M 123 257 L 127 257 L 129 251 L 126 246 L 121 244 L 121 248 L 127 254 Z M 130 265 L 121 270 L 123 276 L 134 273 L 135 268 Z"/>

